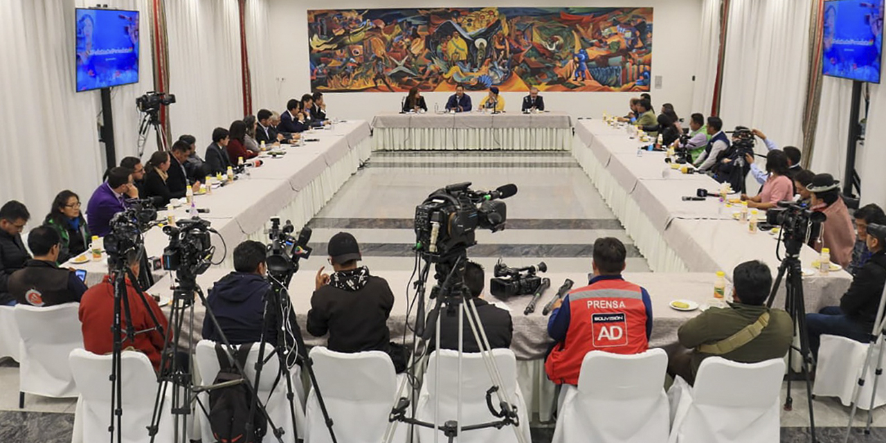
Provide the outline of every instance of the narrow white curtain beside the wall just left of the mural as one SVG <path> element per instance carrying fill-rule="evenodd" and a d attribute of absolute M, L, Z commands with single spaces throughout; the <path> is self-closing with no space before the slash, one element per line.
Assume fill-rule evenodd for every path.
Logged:
<path fill-rule="evenodd" d="M 253 89 L 253 114 L 261 108 L 273 110 L 284 107 L 275 90 L 276 80 L 271 67 L 271 34 L 268 23 L 268 0 L 245 0 L 246 44 L 249 53 L 249 72 Z"/>

